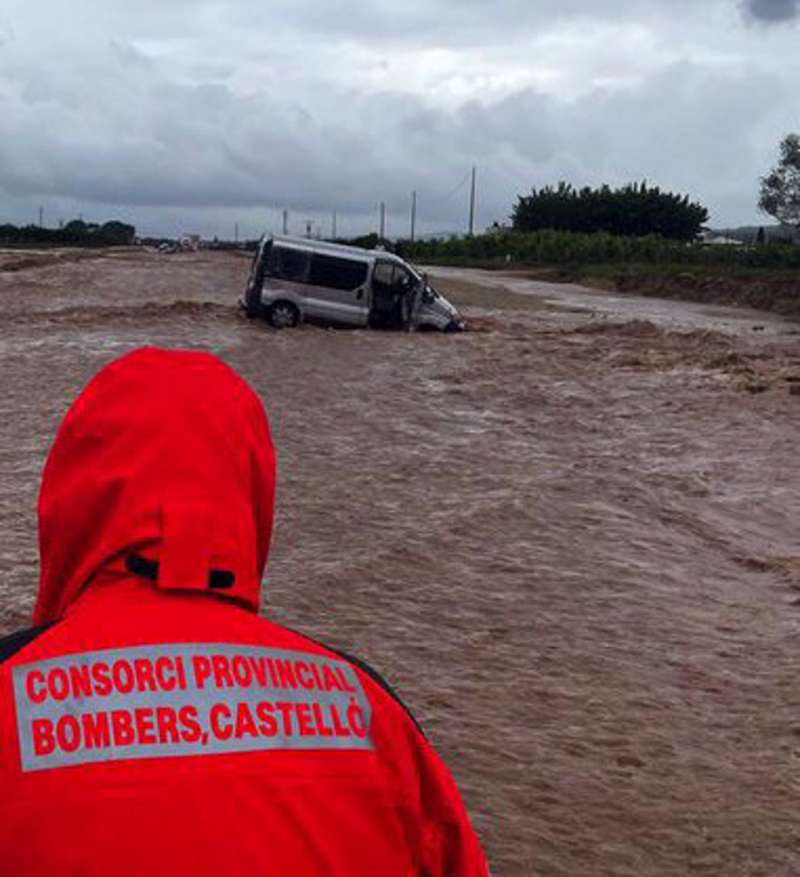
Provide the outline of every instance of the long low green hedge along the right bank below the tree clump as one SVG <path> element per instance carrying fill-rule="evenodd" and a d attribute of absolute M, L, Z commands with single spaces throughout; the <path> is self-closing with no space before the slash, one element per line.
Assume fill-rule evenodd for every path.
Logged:
<path fill-rule="evenodd" d="M 683 243 L 657 235 L 623 237 L 605 232 L 505 232 L 449 240 L 400 241 L 397 252 L 416 262 L 439 265 L 649 264 L 751 268 L 800 268 L 800 246 L 770 242 L 760 246 Z"/>

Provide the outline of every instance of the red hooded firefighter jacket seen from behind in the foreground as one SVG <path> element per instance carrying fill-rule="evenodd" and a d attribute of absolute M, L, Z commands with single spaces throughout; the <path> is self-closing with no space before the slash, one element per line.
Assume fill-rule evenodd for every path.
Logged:
<path fill-rule="evenodd" d="M 0 640 L 0 873 L 484 877 L 458 790 L 366 665 L 258 615 L 260 401 L 207 354 L 89 384 L 39 500 L 36 628 Z"/>

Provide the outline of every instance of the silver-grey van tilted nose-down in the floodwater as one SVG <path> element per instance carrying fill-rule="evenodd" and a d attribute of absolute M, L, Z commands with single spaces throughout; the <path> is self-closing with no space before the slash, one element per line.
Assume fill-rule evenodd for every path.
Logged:
<path fill-rule="evenodd" d="M 380 329 L 464 328 L 459 312 L 399 256 L 307 238 L 265 236 L 244 309 L 276 328 L 301 320 Z"/>

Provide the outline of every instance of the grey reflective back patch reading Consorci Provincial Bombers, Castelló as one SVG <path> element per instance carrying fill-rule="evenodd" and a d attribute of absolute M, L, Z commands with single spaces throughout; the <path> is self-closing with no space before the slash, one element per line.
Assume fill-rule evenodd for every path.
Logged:
<path fill-rule="evenodd" d="M 356 671 L 229 644 L 84 652 L 14 669 L 25 771 L 126 758 L 371 749 Z"/>

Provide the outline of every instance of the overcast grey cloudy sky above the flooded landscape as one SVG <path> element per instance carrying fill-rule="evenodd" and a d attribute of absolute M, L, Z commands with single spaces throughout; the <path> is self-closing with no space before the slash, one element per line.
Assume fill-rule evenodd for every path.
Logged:
<path fill-rule="evenodd" d="M 800 0 L 4 0 L 0 222 L 463 230 L 648 179 L 716 226 L 800 131 Z"/>

